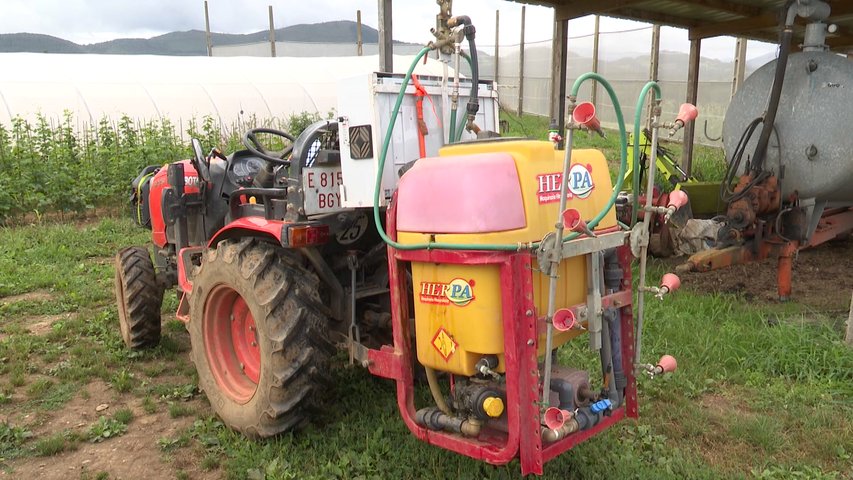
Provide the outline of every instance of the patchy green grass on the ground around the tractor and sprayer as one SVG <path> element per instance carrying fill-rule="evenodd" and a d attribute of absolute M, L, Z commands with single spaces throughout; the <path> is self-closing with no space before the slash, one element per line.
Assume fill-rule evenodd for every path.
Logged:
<path fill-rule="evenodd" d="M 151 439 L 167 461 L 189 459 L 176 476 L 188 475 L 192 465 L 234 479 L 518 477 L 517 461 L 493 467 L 415 439 L 397 413 L 393 383 L 361 369 L 332 370 L 335 402 L 304 431 L 256 442 L 226 428 L 208 408 L 197 408 L 200 392 L 179 324 L 164 325 L 164 341 L 155 349 L 123 347 L 108 259 L 119 247 L 145 240 L 146 232 L 115 219 L 0 229 L 0 295 L 47 292 L 37 302 L 0 301 L 0 418 L 6 419 L 0 423 L 0 464 L 13 468 L 31 456 L 60 462 L 52 458 L 65 458 L 81 441 L 109 442 L 134 428 L 133 412 L 123 409 L 77 435 L 33 437 L 32 431 L 42 431 L 34 419 L 49 418 L 77 395 L 84 398 L 78 392 L 99 381 L 110 394 L 137 400 L 138 415 L 168 412 L 192 419 L 174 435 Z M 665 267 L 653 261 L 650 275 Z M 544 478 L 849 473 L 853 350 L 840 340 L 838 318 L 796 303 L 753 305 L 688 289 L 648 305 L 644 357 L 675 355 L 679 372 L 641 379 L 640 420 L 548 463 Z M 62 317 L 45 334 L 29 333 L 28 318 L 46 311 L 75 315 Z M 804 314 L 813 321 L 803 322 Z M 770 316 L 778 321 L 768 323 Z M 566 346 L 558 358 L 595 368 L 584 346 Z"/>

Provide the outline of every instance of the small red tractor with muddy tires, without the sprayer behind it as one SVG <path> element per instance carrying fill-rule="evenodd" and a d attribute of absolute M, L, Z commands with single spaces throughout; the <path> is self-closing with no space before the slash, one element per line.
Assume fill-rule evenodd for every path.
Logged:
<path fill-rule="evenodd" d="M 336 127 L 319 122 L 300 141 L 251 130 L 247 149 L 228 157 L 205 155 L 194 140 L 191 160 L 148 168 L 134 181 L 137 219 L 152 231 L 154 261 L 144 247 L 116 256 L 122 337 L 130 348 L 156 345 L 163 291 L 177 287 L 200 387 L 229 426 L 252 437 L 305 423 L 314 389 L 327 380 L 334 352 L 328 329 L 343 306 L 330 307 L 334 293 L 321 288 L 309 258 L 342 265 L 335 272 L 325 263 L 319 272 L 337 282 L 349 276 L 347 259 L 361 248 L 362 281 L 383 282 L 375 276 L 383 274 L 384 252 L 363 250 L 376 244 L 364 215 L 342 212 L 327 223 L 288 208 L 298 196 L 296 164 L 307 162 L 312 145 L 312 160 L 332 157 L 322 147 L 336 146 Z M 261 133 L 290 146 L 273 155 L 260 145 Z M 332 225 L 338 235 L 330 238 Z"/>

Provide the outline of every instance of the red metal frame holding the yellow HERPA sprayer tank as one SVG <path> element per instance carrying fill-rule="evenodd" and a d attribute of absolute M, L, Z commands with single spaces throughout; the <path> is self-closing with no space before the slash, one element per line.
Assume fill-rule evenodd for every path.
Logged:
<path fill-rule="evenodd" d="M 387 230 L 396 240 L 396 198 L 387 214 Z M 539 335 L 533 303 L 533 255 L 530 252 L 487 252 L 453 250 L 404 251 L 388 247 L 392 325 L 394 345 L 369 350 L 370 372 L 397 382 L 397 405 L 403 421 L 419 439 L 441 448 L 483 460 L 505 464 L 518 457 L 523 475 L 542 474 L 548 460 L 607 429 L 625 416 L 637 417 L 636 380 L 633 374 L 633 315 L 631 296 L 622 292 L 611 296 L 609 304 L 622 312 L 622 359 L 628 380 L 626 403 L 589 430 L 576 432 L 549 445 L 543 445 L 539 414 L 540 372 L 537 366 Z M 619 249 L 625 274 L 623 287 L 631 288 L 631 254 Z M 497 265 L 503 298 L 503 327 L 506 364 L 506 414 L 509 433 L 484 428 L 477 438 L 426 429 L 415 422 L 414 385 L 411 365 L 408 295 L 411 286 L 405 274 L 406 262 Z"/>

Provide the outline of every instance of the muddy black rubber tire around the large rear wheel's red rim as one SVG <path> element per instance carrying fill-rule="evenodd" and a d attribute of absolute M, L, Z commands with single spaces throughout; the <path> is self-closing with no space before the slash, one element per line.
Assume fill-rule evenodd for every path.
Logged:
<path fill-rule="evenodd" d="M 223 399 L 217 391 L 197 325 L 202 320 L 196 312 L 203 308 L 204 289 L 222 281 L 242 286 L 237 290 L 258 328 L 261 374 L 258 389 L 246 405 Z M 328 318 L 318 289 L 319 279 L 299 262 L 298 253 L 257 239 L 225 240 L 205 255 L 190 300 L 192 358 L 200 386 L 215 397 L 211 404 L 229 427 L 251 438 L 279 435 L 307 425 L 323 403 L 326 386 L 331 384 L 328 373 L 334 345 L 323 334 Z M 255 413 L 238 414 L 247 408 Z"/>

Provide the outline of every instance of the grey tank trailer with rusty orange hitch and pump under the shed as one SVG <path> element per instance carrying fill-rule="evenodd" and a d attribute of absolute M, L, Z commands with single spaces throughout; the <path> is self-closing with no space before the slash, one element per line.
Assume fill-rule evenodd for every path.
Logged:
<path fill-rule="evenodd" d="M 853 230 L 853 62 L 826 46 L 835 28 L 826 23 L 828 3 L 789 1 L 781 13 L 779 58 L 744 82 L 726 112 L 728 209 L 717 248 L 681 270 L 777 256 L 779 297 L 787 299 L 796 251 Z M 802 52 L 789 54 L 797 17 L 810 23 Z"/>

